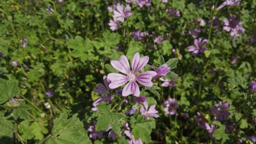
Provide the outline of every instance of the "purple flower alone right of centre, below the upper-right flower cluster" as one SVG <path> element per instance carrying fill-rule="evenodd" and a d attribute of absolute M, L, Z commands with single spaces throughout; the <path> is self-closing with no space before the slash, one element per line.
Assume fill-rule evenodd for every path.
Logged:
<path fill-rule="evenodd" d="M 207 39 L 204 39 L 202 41 L 201 41 L 201 38 L 195 39 L 194 40 L 195 45 L 189 46 L 188 51 L 193 51 L 192 55 L 196 56 L 196 55 L 198 55 L 199 52 L 204 52 L 205 50 L 207 50 L 207 47 L 203 47 L 203 45 L 205 45 L 207 43 L 208 43 Z"/>

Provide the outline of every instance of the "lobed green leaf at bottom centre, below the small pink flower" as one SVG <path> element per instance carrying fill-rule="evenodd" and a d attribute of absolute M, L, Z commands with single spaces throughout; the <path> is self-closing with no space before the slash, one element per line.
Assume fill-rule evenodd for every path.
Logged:
<path fill-rule="evenodd" d="M 136 122 L 131 124 L 131 127 L 132 135 L 135 140 L 141 138 L 143 142 L 149 143 L 152 129 L 155 129 L 155 121 L 146 120 L 144 119 L 144 116 L 139 115 L 136 119 Z"/>

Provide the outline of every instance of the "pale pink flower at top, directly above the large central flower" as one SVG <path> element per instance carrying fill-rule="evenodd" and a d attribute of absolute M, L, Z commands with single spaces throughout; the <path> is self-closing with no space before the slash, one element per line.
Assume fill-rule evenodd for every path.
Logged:
<path fill-rule="evenodd" d="M 129 17 L 132 15 L 132 13 L 129 12 L 130 10 L 131 10 L 130 5 L 126 5 L 124 9 L 124 5 L 118 3 L 117 10 L 114 10 L 113 17 L 115 17 L 118 21 L 123 22 L 126 17 Z"/>

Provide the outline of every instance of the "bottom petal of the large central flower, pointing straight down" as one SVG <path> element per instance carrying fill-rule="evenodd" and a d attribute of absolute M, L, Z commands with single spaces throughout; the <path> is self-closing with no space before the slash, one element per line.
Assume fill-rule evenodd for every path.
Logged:
<path fill-rule="evenodd" d="M 124 87 L 122 95 L 123 97 L 126 97 L 127 95 L 133 94 L 136 97 L 139 96 L 139 87 L 135 81 L 131 81 L 127 83 L 127 85 Z"/>

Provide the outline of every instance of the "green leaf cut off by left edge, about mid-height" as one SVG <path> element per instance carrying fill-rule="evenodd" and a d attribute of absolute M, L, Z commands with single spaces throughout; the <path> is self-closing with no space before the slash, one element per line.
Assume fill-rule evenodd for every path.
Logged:
<path fill-rule="evenodd" d="M 3 104 L 5 101 L 10 98 L 16 97 L 19 94 L 18 82 L 0 79 L 0 104 Z"/>

